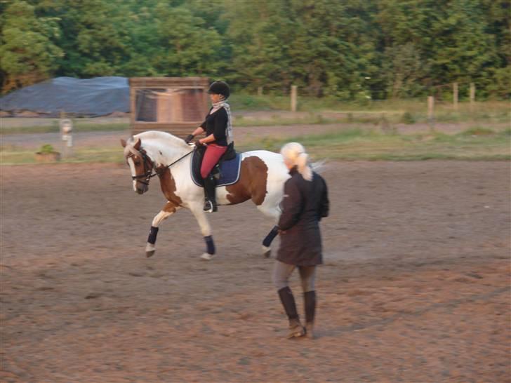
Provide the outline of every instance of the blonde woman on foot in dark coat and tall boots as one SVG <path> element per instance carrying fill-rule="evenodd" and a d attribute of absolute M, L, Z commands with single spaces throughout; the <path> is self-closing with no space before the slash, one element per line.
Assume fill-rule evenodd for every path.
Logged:
<path fill-rule="evenodd" d="M 280 248 L 274 265 L 273 281 L 289 319 L 288 338 L 314 338 L 316 266 L 323 263 L 319 221 L 328 216 L 328 191 L 324 179 L 314 173 L 308 154 L 298 142 L 281 149 L 289 178 L 284 184 L 282 214 L 279 220 Z M 305 328 L 296 312 L 295 299 L 289 288 L 289 277 L 298 267 L 305 306 Z"/>

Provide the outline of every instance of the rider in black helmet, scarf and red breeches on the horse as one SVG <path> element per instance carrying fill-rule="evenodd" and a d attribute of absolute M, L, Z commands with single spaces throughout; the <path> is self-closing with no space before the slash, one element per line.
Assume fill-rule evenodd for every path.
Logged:
<path fill-rule="evenodd" d="M 196 135 L 206 132 L 206 137 L 195 142 L 195 145 L 206 144 L 206 152 L 201 164 L 201 177 L 204 179 L 204 211 L 213 213 L 217 211 L 215 199 L 215 180 L 211 170 L 218 163 L 220 157 L 232 146 L 232 119 L 229 104 L 225 102 L 230 95 L 230 88 L 224 81 L 215 81 L 209 86 L 208 93 L 211 98 L 211 109 L 204 122 L 186 137 L 191 142 Z"/>

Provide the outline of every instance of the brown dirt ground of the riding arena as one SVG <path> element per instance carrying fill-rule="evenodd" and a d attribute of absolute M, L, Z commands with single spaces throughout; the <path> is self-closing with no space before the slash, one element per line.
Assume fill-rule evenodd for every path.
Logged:
<path fill-rule="evenodd" d="M 187 211 L 146 259 L 157 184 L 3 166 L 0 381 L 510 382 L 509 170 L 330 163 L 319 339 L 288 341 L 253 206 L 212 215 L 211 262 Z"/>

